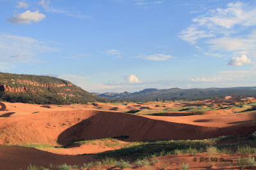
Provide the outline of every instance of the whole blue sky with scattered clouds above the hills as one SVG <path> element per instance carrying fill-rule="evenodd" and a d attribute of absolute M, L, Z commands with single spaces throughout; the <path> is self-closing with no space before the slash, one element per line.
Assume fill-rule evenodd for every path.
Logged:
<path fill-rule="evenodd" d="M 0 59 L 88 92 L 256 86 L 256 1 L 0 0 Z"/>

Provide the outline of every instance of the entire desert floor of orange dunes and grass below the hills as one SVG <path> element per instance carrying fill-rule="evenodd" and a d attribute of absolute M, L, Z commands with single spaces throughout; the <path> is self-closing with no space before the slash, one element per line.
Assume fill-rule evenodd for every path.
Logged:
<path fill-rule="evenodd" d="M 109 158 L 129 161 L 127 169 L 180 169 L 182 163 L 189 169 L 256 169 L 237 164 L 256 157 L 253 97 L 0 105 L 0 169 L 120 169 L 102 162 Z M 146 163 L 138 166 L 137 159 Z M 97 161 L 103 164 L 83 166 Z"/>

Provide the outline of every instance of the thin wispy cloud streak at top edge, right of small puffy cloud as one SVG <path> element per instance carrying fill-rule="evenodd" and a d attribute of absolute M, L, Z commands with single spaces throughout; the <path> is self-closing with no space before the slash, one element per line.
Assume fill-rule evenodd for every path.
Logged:
<path fill-rule="evenodd" d="M 70 17 L 76 17 L 80 19 L 89 18 L 88 15 L 84 15 L 79 11 L 67 11 L 67 10 L 59 10 L 59 9 L 53 8 L 52 6 L 50 6 L 49 0 L 41 0 L 39 4 L 44 8 L 45 11 L 49 11 L 52 13 L 62 13 L 64 15 L 67 15 Z"/>

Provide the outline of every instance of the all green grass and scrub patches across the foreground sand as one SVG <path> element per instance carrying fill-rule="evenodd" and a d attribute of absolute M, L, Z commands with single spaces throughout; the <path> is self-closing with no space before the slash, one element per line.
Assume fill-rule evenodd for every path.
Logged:
<path fill-rule="evenodd" d="M 253 132 L 252 134 L 255 134 Z M 256 143 L 255 139 L 250 138 L 252 134 L 247 134 L 244 136 L 222 136 L 219 138 L 212 139 L 202 139 L 202 140 L 180 140 L 180 141 L 147 141 L 147 142 L 132 142 L 129 144 L 119 143 L 116 139 L 97 139 L 90 141 L 76 141 L 74 143 L 90 143 L 90 142 L 102 142 L 112 143 L 111 146 L 121 146 L 120 150 L 112 150 L 103 153 L 95 153 L 98 160 L 96 162 L 89 162 L 88 164 L 83 164 L 83 166 L 72 166 L 73 168 L 86 168 L 86 167 L 102 167 L 102 166 L 114 166 L 120 167 L 121 169 L 125 167 L 134 166 L 146 166 L 151 168 L 156 162 L 159 162 L 156 157 L 163 157 L 165 155 L 175 155 L 175 154 L 184 154 L 190 153 L 195 155 L 196 153 L 207 152 L 209 157 L 214 157 L 217 153 L 227 153 L 227 154 L 253 154 L 256 153 Z M 239 141 L 239 142 L 237 142 Z M 72 143 L 72 144 L 74 144 Z M 108 144 L 107 144 L 108 145 Z M 56 146 L 49 145 L 21 145 L 35 148 L 54 148 Z M 164 148 L 164 149 L 163 149 Z M 86 155 L 86 154 L 84 154 Z M 130 163 L 131 162 L 131 163 Z M 212 164 L 212 162 L 211 162 Z M 254 157 L 239 157 L 238 162 L 239 166 L 256 166 Z M 30 166 L 29 168 L 34 168 L 35 166 Z M 71 167 L 66 164 L 60 166 L 50 165 L 50 168 L 65 168 Z M 162 164 L 161 167 L 166 168 L 167 165 Z M 180 168 L 188 167 L 187 164 L 184 164 Z M 44 168 L 44 167 L 36 167 Z M 46 169 L 46 168 L 45 168 Z"/>

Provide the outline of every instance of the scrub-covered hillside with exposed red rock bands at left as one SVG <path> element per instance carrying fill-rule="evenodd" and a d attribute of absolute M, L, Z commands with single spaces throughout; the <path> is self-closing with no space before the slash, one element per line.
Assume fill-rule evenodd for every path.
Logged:
<path fill-rule="evenodd" d="M 10 73 L 0 73 L 0 100 L 35 104 L 106 101 L 60 78 Z"/>

